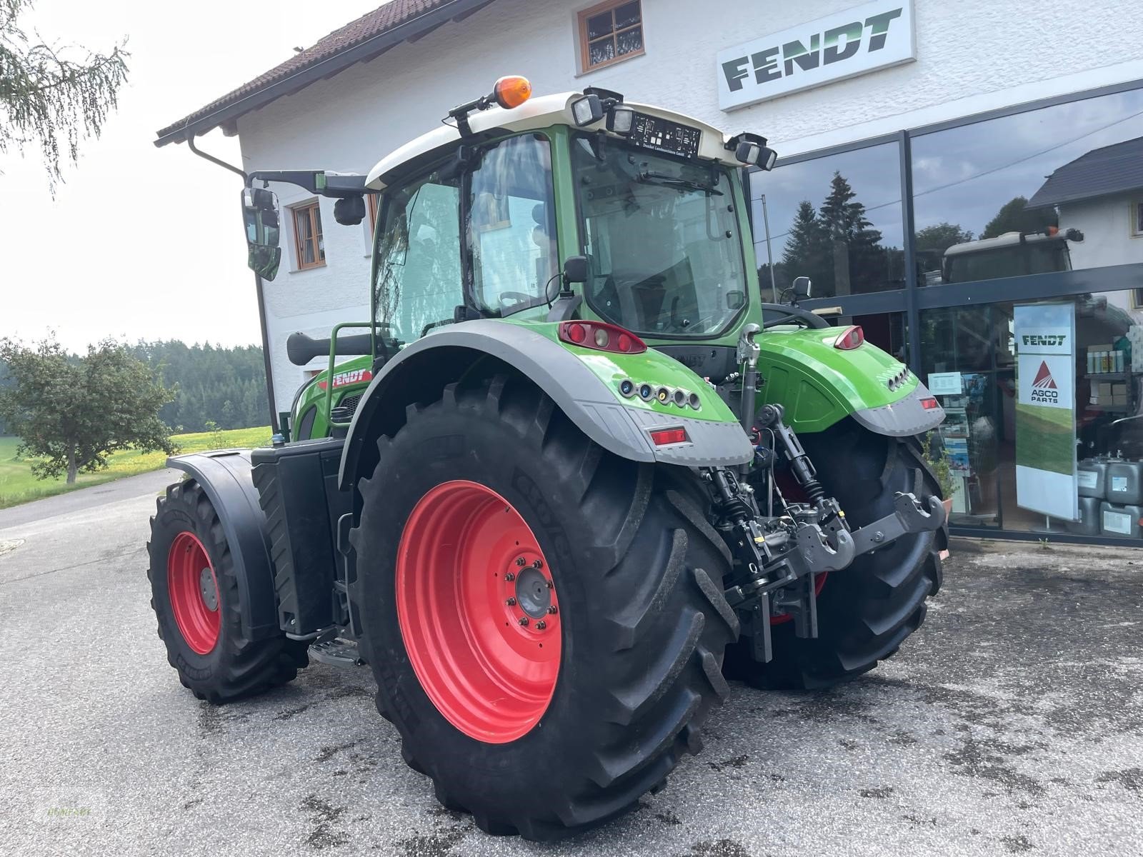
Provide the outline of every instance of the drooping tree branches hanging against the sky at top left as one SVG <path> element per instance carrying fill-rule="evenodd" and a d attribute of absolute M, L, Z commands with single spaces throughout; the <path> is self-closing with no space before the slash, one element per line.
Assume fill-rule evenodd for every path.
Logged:
<path fill-rule="evenodd" d="M 74 163 L 80 141 L 98 137 L 115 109 L 130 55 L 117 45 L 77 61 L 73 50 L 31 40 L 17 22 L 31 8 L 32 0 L 0 0 L 0 152 L 23 154 L 34 141 L 54 187 L 61 150 Z"/>

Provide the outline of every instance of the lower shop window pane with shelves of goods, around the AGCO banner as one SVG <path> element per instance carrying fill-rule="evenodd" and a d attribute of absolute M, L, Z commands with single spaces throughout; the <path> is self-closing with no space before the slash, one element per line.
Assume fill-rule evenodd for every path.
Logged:
<path fill-rule="evenodd" d="M 1040 367 L 1022 379 L 1016 313 L 1068 303 L 1076 319 L 1065 361 L 1071 377 L 1040 378 Z M 946 414 L 930 440 L 949 455 L 954 527 L 1130 538 L 1143 546 L 1134 524 L 1120 531 L 1122 522 L 1143 516 L 1143 311 L 1134 309 L 1130 290 L 926 310 L 920 338 L 921 381 Z M 1076 448 L 1078 520 L 1029 508 L 1039 498 L 1017 488 L 1017 463 L 1034 466 L 1052 456 L 1042 424 L 1020 416 L 1020 391 L 1029 385 L 1073 391 L 1071 413 L 1063 415 L 1066 436 L 1055 443 L 1066 455 Z"/>

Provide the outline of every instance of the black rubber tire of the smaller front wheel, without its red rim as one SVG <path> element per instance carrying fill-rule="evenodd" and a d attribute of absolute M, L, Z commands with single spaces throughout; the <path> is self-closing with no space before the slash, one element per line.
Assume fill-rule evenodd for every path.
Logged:
<path fill-rule="evenodd" d="M 214 571 L 216 590 L 210 600 L 218 614 L 217 632 L 213 648 L 206 652 L 190 644 L 175 616 L 168 574 L 176 539 L 179 550 L 183 545 L 193 547 L 197 540 Z M 221 705 L 251 696 L 291 681 L 309 663 L 305 642 L 289 640 L 285 634 L 262 640 L 245 635 L 238 577 L 226 536 L 210 499 L 194 480 L 169 486 L 167 496 L 159 498 L 151 519 L 147 554 L 151 608 L 159 620 L 159 639 L 183 687 L 195 697 Z"/>

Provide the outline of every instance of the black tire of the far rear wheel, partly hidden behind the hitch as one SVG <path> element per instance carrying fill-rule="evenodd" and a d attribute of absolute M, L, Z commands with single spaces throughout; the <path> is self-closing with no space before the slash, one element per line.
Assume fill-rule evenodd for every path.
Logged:
<path fill-rule="evenodd" d="M 852 418 L 798 436 L 854 529 L 892 514 L 897 491 L 922 502 L 941 496 L 914 439 L 873 434 Z M 740 641 L 727 650 L 727 676 L 762 689 L 809 690 L 869 672 L 925 620 L 925 602 L 941 587 L 945 545 L 943 531 L 910 534 L 831 571 L 817 596 L 818 636 L 796 636 L 792 622 L 772 625 L 774 658 L 760 664 L 750 641 Z"/>

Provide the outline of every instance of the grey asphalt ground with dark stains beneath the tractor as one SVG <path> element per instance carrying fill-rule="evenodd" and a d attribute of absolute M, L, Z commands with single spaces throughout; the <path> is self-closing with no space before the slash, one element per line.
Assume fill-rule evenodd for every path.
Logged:
<path fill-rule="evenodd" d="M 144 572 L 166 481 L 0 511 L 0 854 L 1143 852 L 1143 552 L 957 543 L 893 660 L 733 684 L 665 791 L 536 846 L 438 806 L 367 668 L 218 708 L 184 690 Z"/>

